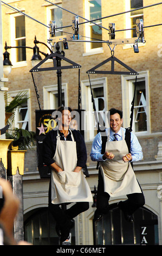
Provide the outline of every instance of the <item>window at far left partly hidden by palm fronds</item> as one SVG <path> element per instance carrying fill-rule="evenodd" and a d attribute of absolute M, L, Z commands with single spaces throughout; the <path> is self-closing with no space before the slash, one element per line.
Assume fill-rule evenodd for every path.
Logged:
<path fill-rule="evenodd" d="M 12 127 L 16 127 L 18 129 L 24 129 L 24 130 L 30 130 L 30 99 L 29 99 L 29 91 L 23 91 L 23 92 L 10 92 L 8 93 L 8 102 L 11 102 L 14 100 L 16 95 L 22 95 L 23 103 L 21 103 L 20 106 L 16 108 L 15 111 L 15 117 L 14 117 L 14 123 L 12 124 Z"/>

